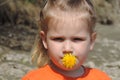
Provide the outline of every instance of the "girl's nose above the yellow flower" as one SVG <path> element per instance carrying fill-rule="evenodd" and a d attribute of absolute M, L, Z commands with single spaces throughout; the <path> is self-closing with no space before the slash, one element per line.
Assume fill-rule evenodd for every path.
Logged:
<path fill-rule="evenodd" d="M 65 41 L 65 43 L 63 44 L 63 53 L 73 53 L 73 49 L 72 49 L 72 43 L 70 41 Z"/>

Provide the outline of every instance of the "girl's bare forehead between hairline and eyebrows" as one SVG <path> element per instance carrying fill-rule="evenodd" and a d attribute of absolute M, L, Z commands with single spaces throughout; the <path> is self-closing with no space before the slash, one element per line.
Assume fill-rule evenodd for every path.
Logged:
<path fill-rule="evenodd" d="M 54 28 L 55 30 L 60 29 L 75 29 L 78 30 L 84 28 L 88 30 L 87 13 L 77 12 L 54 12 L 54 16 L 48 22 L 48 30 Z"/>

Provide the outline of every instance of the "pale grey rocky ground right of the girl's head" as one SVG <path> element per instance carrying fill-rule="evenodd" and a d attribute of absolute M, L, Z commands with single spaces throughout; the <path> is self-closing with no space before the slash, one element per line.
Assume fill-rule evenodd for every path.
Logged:
<path fill-rule="evenodd" d="M 95 49 L 90 53 L 87 64 L 107 72 L 112 80 L 120 76 L 120 25 L 97 25 Z"/>

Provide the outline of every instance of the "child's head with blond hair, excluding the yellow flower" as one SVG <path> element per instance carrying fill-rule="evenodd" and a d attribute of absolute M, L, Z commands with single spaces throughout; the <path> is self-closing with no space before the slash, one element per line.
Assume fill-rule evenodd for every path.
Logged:
<path fill-rule="evenodd" d="M 48 0 L 40 13 L 39 39 L 33 49 L 38 65 L 52 61 L 67 70 L 61 62 L 64 54 L 77 58 L 78 68 L 93 49 L 96 18 L 90 0 Z M 42 62 L 42 63 L 41 63 Z"/>

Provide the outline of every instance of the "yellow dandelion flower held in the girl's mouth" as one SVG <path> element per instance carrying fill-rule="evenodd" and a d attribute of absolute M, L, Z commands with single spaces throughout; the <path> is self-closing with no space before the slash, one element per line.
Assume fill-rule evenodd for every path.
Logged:
<path fill-rule="evenodd" d="M 76 64 L 76 57 L 71 53 L 66 53 L 62 59 L 62 63 L 66 68 L 72 68 Z"/>

